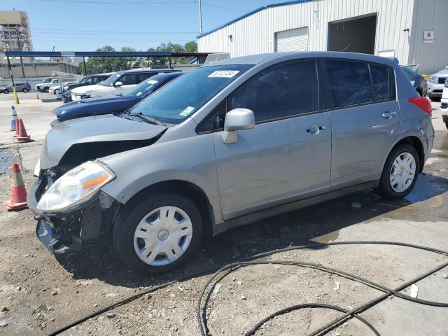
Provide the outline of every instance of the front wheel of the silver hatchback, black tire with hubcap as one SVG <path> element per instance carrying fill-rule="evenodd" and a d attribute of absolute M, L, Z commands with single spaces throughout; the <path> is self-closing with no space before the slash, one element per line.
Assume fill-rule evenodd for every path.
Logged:
<path fill-rule="evenodd" d="M 113 246 L 125 265 L 139 273 L 160 274 L 186 262 L 196 252 L 202 236 L 202 217 L 195 203 L 181 193 L 139 194 L 136 202 L 127 202 L 113 227 Z M 174 221 L 169 221 L 169 216 L 166 216 L 161 222 L 163 214 L 174 216 Z M 190 226 L 183 230 L 188 227 L 188 218 Z M 179 224 L 179 221 L 187 224 Z M 186 227 L 170 228 L 170 224 Z M 162 226 L 157 228 L 158 225 Z M 175 249 L 176 252 L 172 253 Z M 137 251 L 140 251 L 140 256 Z M 154 251 L 158 251 L 155 256 Z M 142 258 L 147 258 L 146 262 Z"/>

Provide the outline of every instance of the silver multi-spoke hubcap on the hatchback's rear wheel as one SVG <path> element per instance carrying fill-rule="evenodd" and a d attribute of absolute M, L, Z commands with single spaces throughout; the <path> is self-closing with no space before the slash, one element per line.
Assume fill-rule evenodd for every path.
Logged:
<path fill-rule="evenodd" d="M 391 188 L 396 193 L 402 193 L 407 190 L 414 181 L 416 172 L 416 164 L 414 155 L 411 153 L 400 153 L 393 160 L 391 173 L 389 174 L 389 182 Z"/>

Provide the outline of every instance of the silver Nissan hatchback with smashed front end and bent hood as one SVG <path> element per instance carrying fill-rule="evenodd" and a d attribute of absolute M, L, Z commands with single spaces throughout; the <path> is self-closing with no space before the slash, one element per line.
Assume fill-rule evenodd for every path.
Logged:
<path fill-rule="evenodd" d="M 433 145 L 430 116 L 393 59 L 226 59 L 127 113 L 54 127 L 28 202 L 52 253 L 109 232 L 127 267 L 165 272 L 237 225 L 368 188 L 405 197 Z"/>

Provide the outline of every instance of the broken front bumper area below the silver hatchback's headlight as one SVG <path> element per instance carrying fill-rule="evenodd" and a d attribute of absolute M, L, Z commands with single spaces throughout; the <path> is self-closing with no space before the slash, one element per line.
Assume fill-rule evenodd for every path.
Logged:
<path fill-rule="evenodd" d="M 51 253 L 80 251 L 94 239 L 109 232 L 120 203 L 101 190 L 85 204 L 64 212 L 50 213 L 36 209 L 38 200 L 49 185 L 50 176 L 41 174 L 28 194 L 28 207 L 37 221 L 36 235 Z"/>

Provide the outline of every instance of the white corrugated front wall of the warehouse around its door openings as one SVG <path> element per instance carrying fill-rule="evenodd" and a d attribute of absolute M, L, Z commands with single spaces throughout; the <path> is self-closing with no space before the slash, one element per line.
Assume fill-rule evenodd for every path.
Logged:
<path fill-rule="evenodd" d="M 409 36 L 403 29 L 411 27 L 413 9 L 414 0 L 318 0 L 265 8 L 198 38 L 198 48 L 204 52 L 230 52 L 231 57 L 273 52 L 276 31 L 307 26 L 309 50 L 327 50 L 328 22 L 377 13 L 375 54 L 395 50 L 395 57 L 406 64 Z"/>

